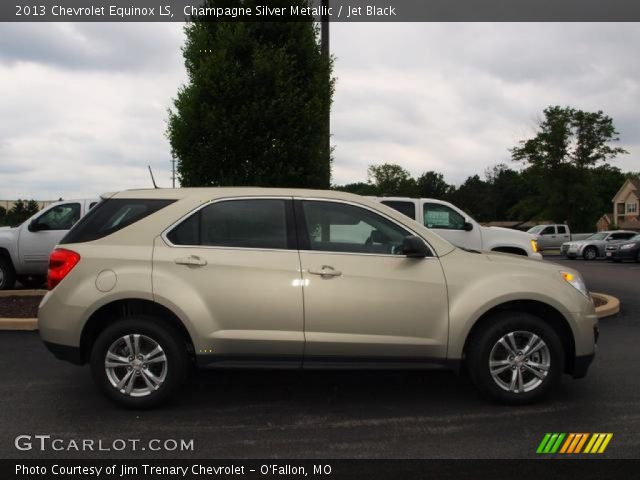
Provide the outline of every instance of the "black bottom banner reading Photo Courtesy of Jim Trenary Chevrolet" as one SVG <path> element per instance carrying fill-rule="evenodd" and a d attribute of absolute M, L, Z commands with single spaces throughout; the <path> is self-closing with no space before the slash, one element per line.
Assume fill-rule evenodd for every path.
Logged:
<path fill-rule="evenodd" d="M 462 452 L 461 452 L 462 453 Z M 65 480 L 636 478 L 639 460 L 0 460 L 0 478 Z"/>

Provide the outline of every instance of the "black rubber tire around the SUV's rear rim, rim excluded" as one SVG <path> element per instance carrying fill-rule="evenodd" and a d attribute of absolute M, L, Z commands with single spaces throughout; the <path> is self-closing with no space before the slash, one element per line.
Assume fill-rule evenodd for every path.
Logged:
<path fill-rule="evenodd" d="M 166 364 L 161 367 L 166 368 L 164 381 L 156 390 L 145 396 L 131 396 L 118 390 L 111 383 L 105 368 L 105 360 L 109 349 L 119 339 L 126 335 L 134 334 L 139 334 L 143 338 L 146 337 L 156 342 L 166 356 Z M 187 345 L 182 334 L 176 328 L 146 315 L 137 315 L 109 325 L 98 335 L 94 342 L 91 348 L 90 363 L 93 378 L 107 397 L 124 407 L 139 409 L 151 408 L 167 401 L 187 379 L 190 365 Z M 156 366 L 157 364 L 154 365 L 154 368 Z M 141 366 L 138 365 L 138 368 L 141 368 Z M 151 366 L 145 368 L 151 368 Z M 126 369 L 118 369 L 121 374 L 125 375 L 127 370 L 132 369 L 128 367 Z M 139 376 L 139 380 L 135 380 L 137 382 L 136 385 L 144 387 L 143 373 L 135 370 L 133 373 Z"/>

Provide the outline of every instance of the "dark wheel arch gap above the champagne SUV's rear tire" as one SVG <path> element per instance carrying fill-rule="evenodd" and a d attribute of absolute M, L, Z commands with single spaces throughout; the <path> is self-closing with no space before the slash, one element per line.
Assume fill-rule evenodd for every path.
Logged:
<path fill-rule="evenodd" d="M 89 316 L 80 335 L 80 355 L 82 360 L 84 362 L 88 361 L 93 343 L 105 328 L 117 321 L 140 314 L 150 315 L 156 318 L 158 322 L 175 328 L 182 335 L 189 355 L 194 354 L 193 339 L 184 323 L 175 313 L 164 305 L 151 300 L 126 298 L 109 302 Z"/>

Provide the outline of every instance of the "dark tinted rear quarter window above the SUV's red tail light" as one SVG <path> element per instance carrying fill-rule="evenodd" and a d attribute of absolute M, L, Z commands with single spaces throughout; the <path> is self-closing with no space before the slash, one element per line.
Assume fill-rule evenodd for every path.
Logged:
<path fill-rule="evenodd" d="M 140 198 L 104 200 L 93 207 L 60 243 L 90 242 L 106 237 L 142 220 L 174 201 Z"/>

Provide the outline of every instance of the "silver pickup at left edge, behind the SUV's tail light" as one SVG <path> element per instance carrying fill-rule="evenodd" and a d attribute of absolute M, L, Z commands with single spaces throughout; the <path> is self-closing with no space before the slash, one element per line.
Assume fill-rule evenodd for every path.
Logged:
<path fill-rule="evenodd" d="M 53 248 L 97 202 L 56 202 L 17 227 L 0 228 L 0 290 L 12 289 L 16 279 L 27 287 L 41 286 Z"/>

